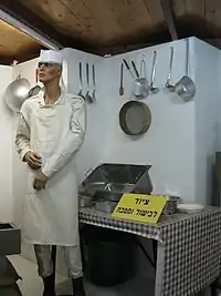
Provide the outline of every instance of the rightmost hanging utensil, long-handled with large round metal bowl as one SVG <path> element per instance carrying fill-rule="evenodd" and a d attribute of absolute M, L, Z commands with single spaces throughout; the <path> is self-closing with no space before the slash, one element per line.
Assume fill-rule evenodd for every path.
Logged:
<path fill-rule="evenodd" d="M 189 74 L 189 39 L 186 39 L 186 75 L 182 76 L 175 85 L 176 93 L 186 102 L 192 100 L 196 95 L 196 84 L 188 76 Z"/>

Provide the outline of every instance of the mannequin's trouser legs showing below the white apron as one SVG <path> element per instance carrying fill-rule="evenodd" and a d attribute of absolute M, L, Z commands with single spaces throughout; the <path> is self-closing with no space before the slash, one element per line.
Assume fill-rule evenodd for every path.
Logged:
<path fill-rule="evenodd" d="M 69 268 L 70 277 L 78 278 L 83 276 L 82 269 L 82 256 L 80 246 L 64 246 L 64 258 Z M 49 245 L 34 245 L 34 252 L 36 256 L 39 275 L 41 277 L 48 277 L 52 275 L 54 271 L 52 262 L 52 252 Z"/>

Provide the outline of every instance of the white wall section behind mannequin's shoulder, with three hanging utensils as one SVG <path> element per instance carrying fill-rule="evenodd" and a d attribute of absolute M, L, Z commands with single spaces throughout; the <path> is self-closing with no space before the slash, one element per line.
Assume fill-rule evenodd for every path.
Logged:
<path fill-rule="evenodd" d="M 103 58 L 84 53 L 73 49 L 64 50 L 67 62 L 67 91 L 78 93 L 80 76 L 78 63 L 82 62 L 83 71 L 83 93 L 86 93 L 86 63 L 90 63 L 90 82 L 92 83 L 92 64 L 96 69 L 97 103 L 87 104 L 87 132 L 84 144 L 76 156 L 78 181 L 85 178 L 88 169 L 94 167 L 102 162 L 103 151 L 105 149 L 105 112 L 106 112 L 106 86 L 102 85 L 102 78 L 105 75 L 103 70 Z M 107 83 L 107 82 L 106 82 Z M 91 85 L 92 86 L 92 85 Z"/>

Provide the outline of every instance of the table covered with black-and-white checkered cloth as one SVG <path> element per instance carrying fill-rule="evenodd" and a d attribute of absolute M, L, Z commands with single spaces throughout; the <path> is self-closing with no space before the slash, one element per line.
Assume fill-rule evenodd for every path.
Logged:
<path fill-rule="evenodd" d="M 80 222 L 136 234 L 158 242 L 155 296 L 192 296 L 219 276 L 221 208 L 162 216 L 157 225 L 110 218 L 81 208 Z"/>

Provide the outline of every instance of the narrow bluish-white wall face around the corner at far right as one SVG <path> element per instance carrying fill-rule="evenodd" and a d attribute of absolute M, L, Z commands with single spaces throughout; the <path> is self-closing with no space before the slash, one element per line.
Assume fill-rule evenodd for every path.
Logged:
<path fill-rule="evenodd" d="M 212 165 L 220 145 L 220 50 L 194 39 L 196 201 L 212 202 Z"/>

